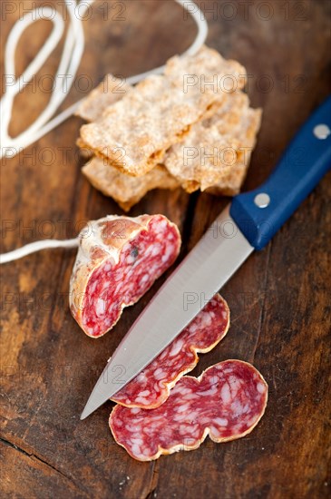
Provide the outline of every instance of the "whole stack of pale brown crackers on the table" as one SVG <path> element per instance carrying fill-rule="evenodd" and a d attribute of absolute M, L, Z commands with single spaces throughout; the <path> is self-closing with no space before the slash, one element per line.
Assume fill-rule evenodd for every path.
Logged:
<path fill-rule="evenodd" d="M 83 174 L 126 211 L 156 188 L 237 194 L 261 121 L 246 78 L 206 46 L 134 87 L 107 75 L 76 113 L 89 122 L 77 142 L 92 156 Z"/>

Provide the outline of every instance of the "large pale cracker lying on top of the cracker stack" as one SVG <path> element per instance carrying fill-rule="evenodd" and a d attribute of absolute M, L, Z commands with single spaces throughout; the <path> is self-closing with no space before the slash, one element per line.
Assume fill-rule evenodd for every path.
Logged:
<path fill-rule="evenodd" d="M 198 79 L 201 74 L 209 77 L 215 72 L 219 81 L 229 73 L 245 73 L 240 64 L 225 61 L 207 47 L 198 55 L 172 58 L 166 75 L 146 78 L 109 106 L 100 120 L 83 125 L 83 146 L 130 175 L 150 171 L 172 144 L 184 139 L 193 123 L 229 95 L 221 85 L 202 89 L 198 82 L 184 87 L 183 77 L 188 71 Z M 244 83 L 241 78 L 239 85 Z"/>

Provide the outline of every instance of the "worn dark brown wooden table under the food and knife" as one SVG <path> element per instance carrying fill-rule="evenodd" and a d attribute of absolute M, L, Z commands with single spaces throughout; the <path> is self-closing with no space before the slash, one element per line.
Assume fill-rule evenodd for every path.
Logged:
<path fill-rule="evenodd" d="M 31 2 L 2 3 L 2 54 L 19 15 L 18 10 L 8 14 L 9 4 L 28 9 Z M 248 68 L 251 102 L 264 110 L 244 186 L 248 190 L 267 178 L 299 125 L 330 92 L 330 4 L 243 4 L 205 2 L 204 8 L 208 44 Z M 194 23 L 170 1 L 126 1 L 114 8 L 110 4 L 108 12 L 104 5 L 97 2 L 84 23 L 81 78 L 65 105 L 105 73 L 126 76 L 160 65 L 194 37 Z M 38 23 L 24 35 L 18 73 L 49 32 L 50 24 Z M 44 73 L 54 73 L 59 50 Z M 43 86 L 44 92 L 28 87 L 19 95 L 11 132 L 23 130 L 39 113 L 49 97 L 49 80 Z M 81 174 L 83 160 L 75 147 L 81 124 L 71 118 L 3 161 L 2 251 L 47 237 L 73 237 L 86 220 L 121 213 Z M 194 452 L 143 464 L 113 441 L 107 423 L 112 403 L 79 419 L 105 360 L 163 279 L 125 310 L 112 333 L 94 341 L 67 306 L 74 250 L 47 250 L 1 268 L 3 497 L 326 497 L 330 178 L 222 290 L 231 308 L 229 334 L 201 356 L 193 374 L 220 360 L 240 358 L 258 367 L 269 385 L 267 412 L 258 427 L 228 444 L 207 439 Z M 161 212 L 178 223 L 183 257 L 227 202 L 205 193 L 153 191 L 131 214 Z"/>

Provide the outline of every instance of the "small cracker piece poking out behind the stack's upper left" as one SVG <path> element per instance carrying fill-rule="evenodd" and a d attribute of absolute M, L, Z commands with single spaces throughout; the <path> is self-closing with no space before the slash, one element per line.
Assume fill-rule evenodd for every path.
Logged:
<path fill-rule="evenodd" d="M 120 101 L 131 88 L 131 85 L 124 80 L 107 74 L 102 83 L 83 99 L 75 115 L 80 116 L 86 122 L 95 122 L 108 106 Z"/>

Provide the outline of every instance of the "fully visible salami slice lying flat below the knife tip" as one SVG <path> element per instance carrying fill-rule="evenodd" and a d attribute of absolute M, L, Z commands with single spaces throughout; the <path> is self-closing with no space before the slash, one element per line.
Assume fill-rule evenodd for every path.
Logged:
<path fill-rule="evenodd" d="M 182 377 L 157 409 L 115 406 L 112 435 L 139 461 L 193 450 L 209 435 L 227 442 L 247 435 L 263 416 L 268 385 L 258 370 L 241 360 L 211 366 L 200 377 Z"/>

